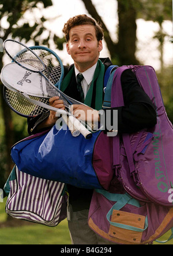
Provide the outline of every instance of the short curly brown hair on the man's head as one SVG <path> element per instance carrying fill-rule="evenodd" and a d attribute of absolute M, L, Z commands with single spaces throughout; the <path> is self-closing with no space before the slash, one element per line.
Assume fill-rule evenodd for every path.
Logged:
<path fill-rule="evenodd" d="M 65 34 L 65 39 L 66 42 L 69 42 L 69 32 L 70 29 L 77 26 L 77 25 L 93 25 L 95 27 L 95 31 L 96 31 L 96 38 L 97 41 L 99 42 L 100 40 L 103 40 L 103 29 L 101 28 L 101 24 L 96 23 L 95 20 L 93 20 L 93 18 L 88 17 L 86 14 L 80 14 L 77 16 L 74 16 L 72 18 L 69 18 L 69 20 L 67 21 L 67 23 L 65 23 L 62 32 Z"/>

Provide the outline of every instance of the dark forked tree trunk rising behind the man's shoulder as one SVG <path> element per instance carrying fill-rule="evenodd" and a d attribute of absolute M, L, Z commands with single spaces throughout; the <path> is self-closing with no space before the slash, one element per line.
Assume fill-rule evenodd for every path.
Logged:
<path fill-rule="evenodd" d="M 116 1 L 116 0 L 115 0 Z M 118 0 L 118 17 L 119 31 L 118 44 L 114 43 L 110 37 L 108 28 L 97 13 L 95 6 L 91 0 L 82 0 L 86 10 L 96 21 L 100 21 L 104 29 L 104 40 L 106 41 L 108 51 L 110 51 L 111 59 L 116 65 L 134 64 L 139 62 L 135 57 L 136 53 L 136 18 L 137 11 L 133 5 L 134 0 Z"/>

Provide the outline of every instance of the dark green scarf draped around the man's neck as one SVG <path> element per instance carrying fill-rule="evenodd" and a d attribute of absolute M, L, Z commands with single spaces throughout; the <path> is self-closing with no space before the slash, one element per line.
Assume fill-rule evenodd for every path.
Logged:
<path fill-rule="evenodd" d="M 65 79 L 63 79 L 62 85 L 61 85 L 61 91 L 65 91 L 65 89 L 69 85 L 73 72 L 74 72 L 74 67 L 69 71 L 69 73 L 67 73 L 67 75 L 65 76 Z M 103 79 L 104 79 L 104 65 L 100 60 L 98 60 L 91 86 L 89 87 L 89 90 L 86 94 L 86 98 L 84 101 L 85 105 L 91 106 L 93 85 L 94 85 L 94 82 L 96 81 L 95 109 L 97 110 L 102 109 Z"/>

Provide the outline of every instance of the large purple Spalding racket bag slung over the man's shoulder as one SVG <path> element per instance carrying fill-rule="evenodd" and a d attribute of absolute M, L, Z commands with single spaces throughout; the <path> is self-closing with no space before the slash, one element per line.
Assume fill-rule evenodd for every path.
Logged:
<path fill-rule="evenodd" d="M 139 187 L 149 201 L 172 206 L 170 192 L 173 185 L 173 159 L 170 155 L 173 144 L 173 129 L 164 108 L 156 73 L 152 66 L 124 66 L 119 68 L 115 77 L 116 89 L 112 87 L 112 94 L 114 94 L 114 90 L 121 90 L 120 77 L 127 68 L 132 68 L 141 87 L 151 98 L 156 108 L 157 124 L 146 131 L 143 130 L 133 135 L 123 135 L 123 145 L 120 150 L 122 158 L 124 155 L 127 157 L 130 172 L 127 176 L 126 168 L 118 168 L 117 173 L 127 192 L 130 192 L 127 183 L 131 179 L 135 181 L 135 183 L 131 181 L 133 187 Z M 121 105 L 123 105 L 122 98 L 121 101 Z M 137 195 L 134 196 L 140 199 Z"/>

